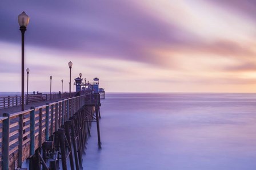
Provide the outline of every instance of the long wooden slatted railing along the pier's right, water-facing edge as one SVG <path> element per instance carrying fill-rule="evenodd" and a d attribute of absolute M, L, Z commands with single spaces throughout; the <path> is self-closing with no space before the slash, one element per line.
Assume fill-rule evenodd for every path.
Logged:
<path fill-rule="evenodd" d="M 3 113 L 0 117 L 2 169 L 15 169 L 9 165 L 17 160 L 17 167 L 21 167 L 22 162 L 34 155 L 35 150 L 83 105 L 85 96 L 78 96 L 14 114 Z"/>

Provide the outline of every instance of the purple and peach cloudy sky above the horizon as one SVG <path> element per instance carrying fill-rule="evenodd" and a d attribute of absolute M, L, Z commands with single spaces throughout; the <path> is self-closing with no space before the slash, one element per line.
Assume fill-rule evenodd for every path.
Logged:
<path fill-rule="evenodd" d="M 22 11 L 29 92 L 68 92 L 69 61 L 106 92 L 256 92 L 256 1 L 0 1 L 0 92 L 21 90 Z"/>

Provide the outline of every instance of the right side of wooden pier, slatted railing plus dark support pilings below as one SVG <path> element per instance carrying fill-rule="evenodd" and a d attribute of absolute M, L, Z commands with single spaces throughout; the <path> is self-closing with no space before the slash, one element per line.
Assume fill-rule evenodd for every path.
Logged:
<path fill-rule="evenodd" d="M 5 113 L 0 117 L 0 168 L 19 169 L 29 159 L 29 169 L 58 169 L 61 159 L 62 169 L 82 169 L 93 121 L 101 148 L 102 97 L 100 93 L 83 94 L 15 113 L 11 111 L 15 107 L 1 109 Z"/>

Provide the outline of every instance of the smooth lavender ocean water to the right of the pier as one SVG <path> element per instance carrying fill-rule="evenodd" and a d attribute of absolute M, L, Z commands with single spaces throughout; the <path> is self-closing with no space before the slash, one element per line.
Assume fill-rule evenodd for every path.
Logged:
<path fill-rule="evenodd" d="M 107 94 L 84 169 L 255 170 L 256 94 Z"/>

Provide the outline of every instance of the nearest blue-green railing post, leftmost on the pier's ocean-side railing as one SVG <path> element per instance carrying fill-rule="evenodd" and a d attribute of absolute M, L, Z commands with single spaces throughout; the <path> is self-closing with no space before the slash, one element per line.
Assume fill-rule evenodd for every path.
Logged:
<path fill-rule="evenodd" d="M 3 117 L 8 117 L 3 120 L 3 141 L 2 141 L 2 168 L 3 170 L 9 169 L 9 136 L 10 136 L 10 114 L 3 113 Z"/>

